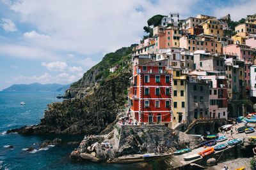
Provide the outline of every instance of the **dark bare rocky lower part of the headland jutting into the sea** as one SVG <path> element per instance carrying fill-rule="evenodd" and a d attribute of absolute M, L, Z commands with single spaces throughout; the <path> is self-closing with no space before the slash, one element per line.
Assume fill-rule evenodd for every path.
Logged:
<path fill-rule="evenodd" d="M 122 73 L 106 81 L 83 98 L 49 104 L 38 125 L 7 131 L 20 134 L 98 134 L 124 111 L 131 73 Z"/>

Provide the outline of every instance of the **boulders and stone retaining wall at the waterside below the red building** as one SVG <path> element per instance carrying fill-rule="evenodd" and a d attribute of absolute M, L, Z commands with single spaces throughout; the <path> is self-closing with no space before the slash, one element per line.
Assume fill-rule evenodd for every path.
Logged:
<path fill-rule="evenodd" d="M 70 154 L 74 160 L 92 162 L 143 162 L 172 155 L 177 148 L 196 148 L 201 139 L 164 125 L 119 125 L 105 135 L 85 136 Z M 161 146 L 161 153 L 157 147 Z M 147 158 L 146 156 L 147 155 Z"/>

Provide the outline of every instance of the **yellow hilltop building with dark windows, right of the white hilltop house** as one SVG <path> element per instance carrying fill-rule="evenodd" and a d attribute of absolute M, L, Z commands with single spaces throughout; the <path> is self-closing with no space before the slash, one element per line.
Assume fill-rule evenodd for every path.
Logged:
<path fill-rule="evenodd" d="M 203 26 L 204 34 L 223 36 L 223 29 L 221 29 L 221 24 L 216 19 L 209 19 L 200 24 Z"/>

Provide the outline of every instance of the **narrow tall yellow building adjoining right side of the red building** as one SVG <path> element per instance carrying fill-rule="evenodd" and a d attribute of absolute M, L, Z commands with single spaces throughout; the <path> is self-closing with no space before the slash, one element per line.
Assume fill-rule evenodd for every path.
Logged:
<path fill-rule="evenodd" d="M 180 69 L 173 70 L 172 113 L 172 128 L 186 122 L 186 74 Z"/>

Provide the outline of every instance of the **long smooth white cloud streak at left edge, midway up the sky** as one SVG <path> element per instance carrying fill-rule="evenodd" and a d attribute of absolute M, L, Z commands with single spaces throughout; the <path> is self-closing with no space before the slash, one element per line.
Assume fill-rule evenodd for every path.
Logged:
<path fill-rule="evenodd" d="M 36 60 L 56 60 L 59 58 L 57 55 L 47 52 L 42 48 L 23 45 L 1 45 L 0 43 L 0 56 L 1 55 Z"/>

